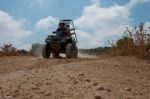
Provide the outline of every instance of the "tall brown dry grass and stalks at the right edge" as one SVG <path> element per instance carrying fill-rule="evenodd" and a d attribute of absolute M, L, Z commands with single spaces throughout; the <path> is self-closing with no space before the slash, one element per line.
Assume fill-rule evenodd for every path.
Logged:
<path fill-rule="evenodd" d="M 150 59 L 150 28 L 149 31 L 140 25 L 138 29 L 124 32 L 123 38 L 112 45 L 112 55 L 136 56 Z"/>

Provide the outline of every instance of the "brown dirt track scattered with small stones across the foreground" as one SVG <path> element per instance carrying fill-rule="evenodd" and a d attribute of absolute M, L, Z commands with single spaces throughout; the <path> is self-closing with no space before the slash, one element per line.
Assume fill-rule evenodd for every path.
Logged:
<path fill-rule="evenodd" d="M 150 62 L 0 58 L 0 99 L 150 99 Z"/>

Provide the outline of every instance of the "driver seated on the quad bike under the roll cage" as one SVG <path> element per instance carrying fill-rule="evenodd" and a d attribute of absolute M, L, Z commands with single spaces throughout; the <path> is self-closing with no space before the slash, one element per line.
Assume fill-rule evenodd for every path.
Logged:
<path fill-rule="evenodd" d="M 63 35 L 63 36 L 71 36 L 69 30 L 65 27 L 64 22 L 59 23 L 59 27 L 56 31 L 61 32 L 61 35 Z"/>

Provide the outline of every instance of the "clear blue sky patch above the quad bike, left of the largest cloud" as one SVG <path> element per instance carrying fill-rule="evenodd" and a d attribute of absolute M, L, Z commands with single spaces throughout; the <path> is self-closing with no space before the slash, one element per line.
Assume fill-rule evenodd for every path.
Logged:
<path fill-rule="evenodd" d="M 81 15 L 84 6 L 90 4 L 90 0 L 0 0 L 0 2 L 1 10 L 16 18 L 25 18 L 32 22 L 50 15 L 75 19 Z"/>

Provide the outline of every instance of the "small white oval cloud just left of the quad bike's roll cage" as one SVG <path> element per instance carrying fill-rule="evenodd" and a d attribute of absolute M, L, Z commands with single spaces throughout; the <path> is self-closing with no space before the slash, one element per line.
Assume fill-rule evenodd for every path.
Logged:
<path fill-rule="evenodd" d="M 46 30 L 46 29 L 56 25 L 57 23 L 58 23 L 58 18 L 48 16 L 46 18 L 40 19 L 36 23 L 36 28 Z"/>

